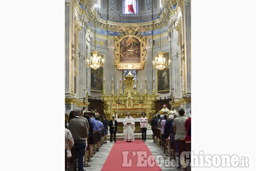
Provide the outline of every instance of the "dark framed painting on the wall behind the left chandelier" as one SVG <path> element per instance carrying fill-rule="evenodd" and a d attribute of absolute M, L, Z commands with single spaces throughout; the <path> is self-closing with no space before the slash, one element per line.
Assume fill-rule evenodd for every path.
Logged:
<path fill-rule="evenodd" d="M 92 56 L 92 52 L 91 52 Z M 102 59 L 104 55 L 98 53 Z M 103 92 L 103 68 L 99 67 L 96 70 L 91 68 L 91 91 L 100 91 Z"/>

